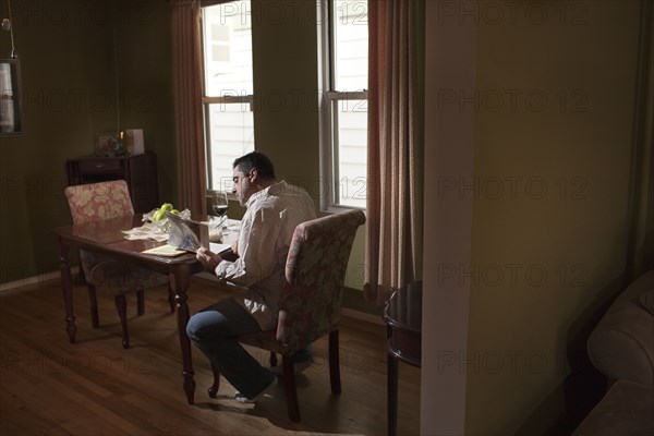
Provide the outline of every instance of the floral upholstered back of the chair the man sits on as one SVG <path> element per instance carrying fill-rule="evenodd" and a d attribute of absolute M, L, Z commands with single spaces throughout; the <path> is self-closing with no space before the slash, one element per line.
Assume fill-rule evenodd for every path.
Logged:
<path fill-rule="evenodd" d="M 364 222 L 363 211 L 350 210 L 295 228 L 277 325 L 277 340 L 287 351 L 302 349 L 338 327 L 348 259 Z"/>

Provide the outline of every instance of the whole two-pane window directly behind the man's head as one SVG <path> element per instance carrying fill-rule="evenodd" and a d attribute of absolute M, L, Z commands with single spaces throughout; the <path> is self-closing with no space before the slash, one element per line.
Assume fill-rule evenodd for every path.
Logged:
<path fill-rule="evenodd" d="M 202 10 L 207 187 L 231 192 L 232 162 L 254 150 L 250 0 Z"/>

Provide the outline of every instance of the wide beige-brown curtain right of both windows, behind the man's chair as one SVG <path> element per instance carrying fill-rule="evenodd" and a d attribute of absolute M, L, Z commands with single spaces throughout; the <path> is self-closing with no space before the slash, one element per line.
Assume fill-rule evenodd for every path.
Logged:
<path fill-rule="evenodd" d="M 368 164 L 364 293 L 377 303 L 422 278 L 420 0 L 368 2 Z"/>

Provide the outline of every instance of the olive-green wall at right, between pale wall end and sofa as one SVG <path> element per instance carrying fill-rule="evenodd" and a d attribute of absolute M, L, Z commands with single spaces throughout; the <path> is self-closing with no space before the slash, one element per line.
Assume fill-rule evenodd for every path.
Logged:
<path fill-rule="evenodd" d="M 477 26 L 467 434 L 545 434 L 583 402 L 576 338 L 623 284 L 640 4 L 530 4 Z"/>

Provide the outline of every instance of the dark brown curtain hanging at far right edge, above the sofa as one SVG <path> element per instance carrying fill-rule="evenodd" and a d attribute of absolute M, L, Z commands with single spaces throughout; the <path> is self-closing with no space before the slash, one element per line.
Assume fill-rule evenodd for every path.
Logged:
<path fill-rule="evenodd" d="M 643 1 L 635 88 L 634 141 L 628 252 L 628 280 L 654 268 L 654 23 L 651 1 Z"/>

